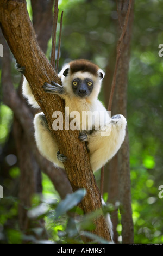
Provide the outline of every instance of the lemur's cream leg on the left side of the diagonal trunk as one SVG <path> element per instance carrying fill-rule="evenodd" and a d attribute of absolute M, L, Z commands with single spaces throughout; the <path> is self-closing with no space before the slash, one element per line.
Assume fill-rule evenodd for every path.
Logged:
<path fill-rule="evenodd" d="M 34 118 L 35 139 L 40 153 L 57 166 L 64 168 L 67 157 L 59 153 L 58 145 L 48 128 L 43 112 L 36 114 Z"/>

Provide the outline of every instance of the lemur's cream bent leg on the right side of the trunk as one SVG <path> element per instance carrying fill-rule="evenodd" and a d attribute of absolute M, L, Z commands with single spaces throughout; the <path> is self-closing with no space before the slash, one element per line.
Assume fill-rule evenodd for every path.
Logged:
<path fill-rule="evenodd" d="M 93 172 L 101 168 L 117 153 L 124 141 L 125 133 L 126 118 L 123 115 L 115 115 L 110 119 L 105 131 L 99 130 L 88 135 L 88 149 Z"/>

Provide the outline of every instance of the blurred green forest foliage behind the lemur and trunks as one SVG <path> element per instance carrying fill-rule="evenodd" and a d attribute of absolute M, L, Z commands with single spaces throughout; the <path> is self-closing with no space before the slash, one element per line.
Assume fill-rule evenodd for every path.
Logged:
<path fill-rule="evenodd" d="M 27 7 L 30 18 L 33 19 L 30 1 L 27 1 Z M 103 70 L 106 70 L 106 66 L 114 69 L 119 26 L 116 1 L 62 0 L 59 1 L 59 9 L 59 13 L 64 10 L 60 68 L 71 59 L 86 58 L 95 62 Z M 135 243 L 163 243 L 163 198 L 159 198 L 159 186 L 163 185 L 163 57 L 158 55 L 158 46 L 163 43 L 162 9 L 161 0 L 135 1 L 127 93 L 131 204 Z M 48 59 L 50 54 L 51 39 L 49 39 L 46 53 Z M 0 58 L 1 70 L 2 58 L 5 56 Z M 14 58 L 12 58 L 11 71 L 14 87 L 18 88 L 21 75 L 15 69 Z M 2 101 L 1 82 L 0 96 L 0 185 L 4 188 L 4 199 L 0 199 L 0 243 L 21 243 L 22 228 L 18 223 L 20 169 L 13 139 L 14 113 Z M 107 96 L 102 87 L 99 99 L 106 106 Z M 95 176 L 98 181 L 99 172 Z M 51 241 L 66 242 L 68 240 L 61 238 L 68 229 L 65 215 L 62 215 L 55 225 L 52 222 L 54 199 L 59 201 L 61 198 L 51 179 L 44 173 L 42 173 L 40 184 L 44 196 L 44 204 L 41 204 L 43 209 L 39 210 L 40 218 L 45 217 L 46 230 Z M 105 199 L 106 197 L 107 194 Z M 39 204 L 40 197 L 33 196 L 32 205 Z M 119 221 L 117 225 L 119 242 L 121 242 L 121 230 Z M 38 237 L 46 239 L 46 235 L 40 231 L 40 226 L 37 228 L 35 226 L 33 232 L 35 239 Z M 24 236 L 23 240 L 25 239 Z M 32 236 L 28 236 L 27 240 L 30 239 L 33 239 Z"/>

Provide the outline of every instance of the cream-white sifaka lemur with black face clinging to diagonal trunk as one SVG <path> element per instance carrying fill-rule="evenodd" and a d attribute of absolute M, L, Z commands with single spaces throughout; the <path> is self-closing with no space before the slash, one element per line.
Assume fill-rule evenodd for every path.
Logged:
<path fill-rule="evenodd" d="M 79 113 L 79 117 L 76 116 L 76 127 L 80 130 L 79 139 L 87 142 L 93 172 L 117 153 L 126 133 L 126 118 L 123 115 L 114 115 L 111 118 L 98 100 L 104 75 L 97 65 L 88 60 L 79 59 L 63 66 L 58 74 L 62 82 L 61 86 L 53 81 L 51 84 L 45 82 L 43 85 L 46 93 L 58 94 L 65 100 L 65 106 L 69 107 L 68 113 L 74 111 Z M 40 108 L 26 78 L 24 78 L 22 92 L 33 107 Z M 91 129 L 88 126 L 88 118 L 81 117 L 83 113 L 90 112 L 93 113 L 90 115 Z M 40 153 L 55 165 L 64 168 L 63 163 L 67 157 L 59 153 L 57 142 L 48 129 L 43 112 L 35 115 L 34 127 Z"/>

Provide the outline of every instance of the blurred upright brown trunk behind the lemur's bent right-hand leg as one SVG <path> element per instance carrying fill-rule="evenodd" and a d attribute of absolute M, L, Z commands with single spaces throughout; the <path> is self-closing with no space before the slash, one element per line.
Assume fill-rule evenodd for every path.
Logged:
<path fill-rule="evenodd" d="M 124 18 L 128 9 L 128 0 L 118 1 L 118 16 L 123 25 Z M 134 1 L 131 6 L 129 23 L 126 34 L 124 35 L 123 44 L 121 46 L 121 56 L 118 63 L 116 87 L 114 92 L 114 100 L 111 108 L 111 115 L 123 114 L 127 118 L 127 85 L 128 85 L 128 70 L 130 60 L 130 41 L 131 41 L 131 28 L 133 25 L 134 17 Z M 120 31 L 121 33 L 121 31 Z M 113 74 L 112 68 L 107 68 L 109 73 Z M 104 87 L 110 92 L 107 80 L 104 81 Z M 109 184 L 104 186 L 104 189 L 109 192 L 109 198 L 115 204 L 117 198 L 121 204 L 121 223 L 122 223 L 122 243 L 133 243 L 133 219 L 131 210 L 131 191 L 130 191 L 130 164 L 129 164 L 129 139 L 128 131 L 126 138 L 122 144 L 121 149 L 118 151 L 117 156 L 114 157 L 106 166 L 105 173 L 109 172 Z M 118 164 L 117 168 L 116 162 Z M 118 172 L 117 172 L 118 170 Z M 113 173 L 115 172 L 115 173 Z M 106 175 L 106 174 L 105 174 Z M 106 179 L 105 179 L 106 180 Z M 118 181 L 118 182 L 117 182 Z M 115 187 L 112 190 L 112 186 Z M 117 218 L 117 217 L 116 217 Z M 116 229 L 116 227 L 114 227 Z M 117 236 L 114 237 L 115 241 Z"/>

